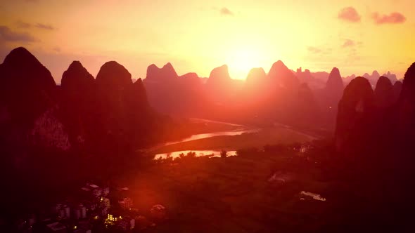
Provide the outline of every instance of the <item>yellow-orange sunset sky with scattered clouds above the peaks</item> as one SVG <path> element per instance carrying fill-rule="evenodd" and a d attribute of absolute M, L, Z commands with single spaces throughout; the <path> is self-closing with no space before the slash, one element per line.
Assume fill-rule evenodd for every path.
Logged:
<path fill-rule="evenodd" d="M 413 0 L 0 1 L 0 62 L 24 46 L 57 83 L 72 60 L 94 76 L 115 60 L 135 79 L 167 62 L 203 77 L 226 64 L 245 79 L 277 60 L 402 78 L 415 62 L 414 8 Z"/>

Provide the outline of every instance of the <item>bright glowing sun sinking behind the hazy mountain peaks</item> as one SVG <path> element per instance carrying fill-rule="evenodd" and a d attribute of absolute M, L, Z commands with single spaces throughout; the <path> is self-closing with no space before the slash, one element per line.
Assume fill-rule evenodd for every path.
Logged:
<path fill-rule="evenodd" d="M 229 51 L 228 55 L 226 64 L 232 79 L 245 79 L 250 69 L 264 65 L 264 54 L 255 47 L 241 46 Z"/>

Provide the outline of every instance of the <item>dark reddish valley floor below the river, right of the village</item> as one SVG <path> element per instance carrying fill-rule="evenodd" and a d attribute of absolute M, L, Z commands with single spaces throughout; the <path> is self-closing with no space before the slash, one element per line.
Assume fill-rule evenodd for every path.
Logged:
<path fill-rule="evenodd" d="M 337 154 L 326 142 L 264 149 L 165 160 L 121 186 L 139 210 L 167 208 L 167 219 L 144 232 L 360 232 L 398 218 L 385 214 L 395 209 L 366 178 L 331 164 Z"/>

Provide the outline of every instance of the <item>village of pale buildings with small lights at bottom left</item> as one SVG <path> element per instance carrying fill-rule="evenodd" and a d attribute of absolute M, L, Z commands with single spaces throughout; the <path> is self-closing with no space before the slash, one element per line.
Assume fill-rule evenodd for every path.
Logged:
<path fill-rule="evenodd" d="M 155 204 L 150 210 L 134 208 L 129 188 L 87 183 L 70 200 L 46 207 L 17 223 L 19 232 L 139 232 L 167 218 L 166 208 Z"/>

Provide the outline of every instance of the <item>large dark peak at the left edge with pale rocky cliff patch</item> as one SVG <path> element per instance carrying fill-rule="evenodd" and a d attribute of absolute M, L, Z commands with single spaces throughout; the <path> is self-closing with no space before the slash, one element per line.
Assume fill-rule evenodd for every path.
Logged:
<path fill-rule="evenodd" d="M 32 147 L 70 149 L 58 107 L 58 87 L 34 55 L 22 47 L 13 49 L 0 65 L 0 82 L 0 141 L 10 149 L 5 152 L 8 157 L 25 154 Z"/>

